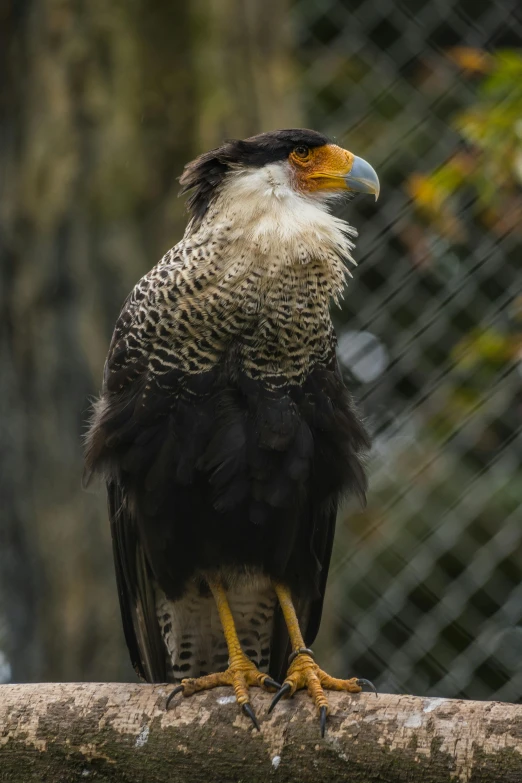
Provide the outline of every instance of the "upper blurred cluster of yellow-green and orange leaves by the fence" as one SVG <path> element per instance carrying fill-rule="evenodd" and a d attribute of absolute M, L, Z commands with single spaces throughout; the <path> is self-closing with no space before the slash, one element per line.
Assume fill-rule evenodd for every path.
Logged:
<path fill-rule="evenodd" d="M 424 217 L 450 241 L 467 238 L 455 198 L 464 189 L 473 194 L 474 213 L 491 231 L 504 235 L 520 230 L 522 52 L 504 50 L 486 57 L 460 49 L 453 59 L 468 73 L 482 74 L 476 101 L 452 121 L 465 145 L 436 171 L 410 177 L 409 193 Z"/>

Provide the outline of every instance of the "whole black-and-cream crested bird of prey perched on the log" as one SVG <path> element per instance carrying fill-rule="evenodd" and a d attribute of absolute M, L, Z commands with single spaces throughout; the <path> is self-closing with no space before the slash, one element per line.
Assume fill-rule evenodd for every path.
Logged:
<path fill-rule="evenodd" d="M 123 628 L 148 682 L 185 697 L 358 693 L 311 649 L 337 509 L 364 501 L 370 440 L 330 308 L 356 231 L 332 214 L 379 194 L 363 158 L 313 130 L 232 139 L 180 177 L 183 238 L 117 319 L 85 442 L 107 486 Z"/>

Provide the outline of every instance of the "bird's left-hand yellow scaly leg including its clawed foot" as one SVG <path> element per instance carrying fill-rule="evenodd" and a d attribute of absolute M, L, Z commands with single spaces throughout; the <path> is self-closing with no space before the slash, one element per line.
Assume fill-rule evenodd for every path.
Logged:
<path fill-rule="evenodd" d="M 212 595 L 214 596 L 219 619 L 223 626 L 223 632 L 228 647 L 229 666 L 224 672 L 216 672 L 215 674 L 207 674 L 204 677 L 190 677 L 182 680 L 181 684 L 174 688 L 172 693 L 169 694 L 166 707 L 168 709 L 171 700 L 177 693 L 183 693 L 183 696 L 192 696 L 193 693 L 197 693 L 198 691 L 210 690 L 210 688 L 217 688 L 220 685 L 231 685 L 234 688 L 237 703 L 259 731 L 259 723 L 257 722 L 252 705 L 250 704 L 248 689 L 250 686 L 257 686 L 259 688 L 265 688 L 266 690 L 269 688 L 278 689 L 280 688 L 280 685 L 275 682 L 275 680 L 272 680 L 268 674 L 260 672 L 241 649 L 234 618 L 230 610 L 230 604 L 228 603 L 227 594 L 221 581 L 219 579 L 207 579 L 207 582 L 212 591 Z"/>

